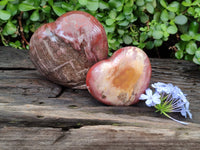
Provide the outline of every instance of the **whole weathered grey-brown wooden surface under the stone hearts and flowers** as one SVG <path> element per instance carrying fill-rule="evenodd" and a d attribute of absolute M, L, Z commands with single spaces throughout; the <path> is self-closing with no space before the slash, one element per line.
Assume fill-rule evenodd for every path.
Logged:
<path fill-rule="evenodd" d="M 151 59 L 151 83 L 173 83 L 188 95 L 193 119 L 172 114 L 189 122 L 184 126 L 155 113 L 144 102 L 106 106 L 87 90 L 56 85 L 34 69 L 28 51 L 0 47 L 0 54 L 1 150 L 182 150 L 200 146 L 200 68 L 191 62 Z"/>

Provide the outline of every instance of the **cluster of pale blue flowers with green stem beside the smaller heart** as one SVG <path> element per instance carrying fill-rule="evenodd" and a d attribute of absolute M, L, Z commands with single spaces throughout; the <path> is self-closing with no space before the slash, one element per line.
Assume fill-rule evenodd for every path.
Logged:
<path fill-rule="evenodd" d="M 162 82 L 154 83 L 151 86 L 155 89 L 155 93 L 153 94 L 152 90 L 148 88 L 146 94 L 142 94 L 139 98 L 140 100 L 146 100 L 145 103 L 147 106 L 154 106 L 157 109 L 156 112 L 160 111 L 161 114 L 184 125 L 187 123 L 176 120 L 167 113 L 180 112 L 185 118 L 189 116 L 192 119 L 192 114 L 189 110 L 190 103 L 180 88 L 170 83 L 165 84 Z"/>

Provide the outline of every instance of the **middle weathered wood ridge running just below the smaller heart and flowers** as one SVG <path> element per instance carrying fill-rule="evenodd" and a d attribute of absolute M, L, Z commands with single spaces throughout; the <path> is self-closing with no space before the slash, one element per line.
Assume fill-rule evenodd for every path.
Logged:
<path fill-rule="evenodd" d="M 5 99 L 5 97 L 2 97 L 2 99 Z M 75 99 L 78 99 L 78 97 Z M 49 99 L 28 98 L 26 102 L 22 101 L 20 103 L 20 101 L 22 101 L 20 97 L 15 97 L 10 98 L 9 102 L 0 103 L 0 123 L 2 126 L 5 124 L 62 128 L 96 124 L 137 124 L 148 126 L 148 124 L 151 124 L 152 118 L 157 126 L 166 126 L 172 123 L 179 125 L 155 113 L 154 109 L 142 106 L 143 103 L 141 103 L 142 105 L 131 107 L 108 107 L 102 104 L 97 105 L 92 101 L 90 106 L 86 106 L 89 102 L 79 104 L 78 101 L 73 102 L 73 99 L 54 99 L 49 101 Z M 150 117 L 150 120 L 145 116 Z M 174 117 L 184 120 L 183 117 L 175 114 Z M 148 121 L 144 124 L 145 118 Z M 191 120 L 187 119 L 185 121 Z"/>

